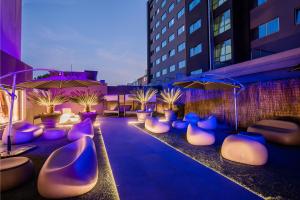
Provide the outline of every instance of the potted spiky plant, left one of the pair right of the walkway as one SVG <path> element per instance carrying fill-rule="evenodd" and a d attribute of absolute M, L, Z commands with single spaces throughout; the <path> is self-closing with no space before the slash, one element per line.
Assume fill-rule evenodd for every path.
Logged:
<path fill-rule="evenodd" d="M 157 90 L 149 88 L 147 90 L 136 90 L 133 92 L 133 99 L 141 104 L 141 110 L 137 111 L 138 121 L 145 122 L 148 116 L 151 116 L 152 111 L 146 110 L 147 103 L 156 95 Z"/>

